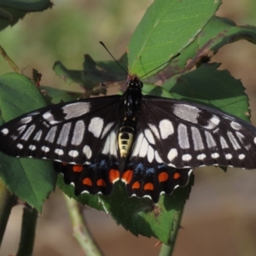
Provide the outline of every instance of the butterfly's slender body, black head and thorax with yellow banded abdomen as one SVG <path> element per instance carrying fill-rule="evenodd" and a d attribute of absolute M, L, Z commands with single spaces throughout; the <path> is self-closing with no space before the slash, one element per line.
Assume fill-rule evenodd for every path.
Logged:
<path fill-rule="evenodd" d="M 133 138 L 137 128 L 137 116 L 140 110 L 143 83 L 137 79 L 128 82 L 128 89 L 125 91 L 125 117 L 119 126 L 119 155 L 125 159 L 131 152 Z"/>

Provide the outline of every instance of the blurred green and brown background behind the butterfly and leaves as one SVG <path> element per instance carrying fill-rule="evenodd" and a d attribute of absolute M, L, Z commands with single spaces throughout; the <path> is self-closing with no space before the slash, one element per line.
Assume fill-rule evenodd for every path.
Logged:
<path fill-rule="evenodd" d="M 116 58 L 126 50 L 131 34 L 153 1 L 148 0 L 52 0 L 54 6 L 43 13 L 26 15 L 14 27 L 0 33 L 0 44 L 9 56 L 32 77 L 32 68 L 43 74 L 42 85 L 79 90 L 66 84 L 52 70 L 55 61 L 69 69 L 81 69 L 84 54 L 96 61 L 110 57 L 103 41 Z M 256 26 L 255 0 L 224 0 L 219 16 L 238 25 Z M 181 27 L 182 30 L 182 27 Z M 246 41 L 224 46 L 212 61 L 220 69 L 241 79 L 245 85 L 256 125 L 256 46 Z M 12 72 L 0 58 L 0 73 Z M 207 84 L 206 84 L 207 86 Z M 195 186 L 185 207 L 174 255 L 256 255 L 256 172 L 218 168 L 195 170 Z M 84 207 L 84 214 L 105 255 L 158 255 L 155 239 L 134 237 L 118 227 L 104 212 Z M 22 207 L 15 207 L 9 219 L 0 255 L 15 254 L 20 236 Z M 33 255 L 83 255 L 72 236 L 61 192 L 57 189 L 45 202 L 38 218 Z"/>

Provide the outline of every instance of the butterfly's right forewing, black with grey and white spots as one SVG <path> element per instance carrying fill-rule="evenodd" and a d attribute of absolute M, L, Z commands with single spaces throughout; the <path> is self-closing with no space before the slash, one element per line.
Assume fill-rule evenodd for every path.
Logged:
<path fill-rule="evenodd" d="M 234 116 L 191 102 L 144 96 L 140 119 L 168 166 L 256 167 L 256 130 Z"/>

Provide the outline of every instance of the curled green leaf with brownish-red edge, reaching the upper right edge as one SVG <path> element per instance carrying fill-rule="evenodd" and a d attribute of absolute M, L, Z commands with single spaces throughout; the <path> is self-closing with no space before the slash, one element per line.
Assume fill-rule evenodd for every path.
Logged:
<path fill-rule="evenodd" d="M 195 41 L 186 49 L 183 49 L 182 54 L 172 61 L 169 67 L 156 74 L 153 80 L 166 80 L 176 73 L 185 73 L 195 67 L 200 58 L 207 56 L 209 53 L 215 55 L 218 49 L 225 44 L 241 39 L 246 39 L 255 44 L 256 26 L 236 26 L 231 20 L 213 16 L 207 26 L 197 35 Z M 189 59 L 192 59 L 192 61 L 187 64 Z"/>

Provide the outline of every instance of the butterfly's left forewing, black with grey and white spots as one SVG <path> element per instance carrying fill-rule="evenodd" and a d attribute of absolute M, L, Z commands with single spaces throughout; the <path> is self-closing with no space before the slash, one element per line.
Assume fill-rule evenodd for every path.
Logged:
<path fill-rule="evenodd" d="M 99 154 L 122 116 L 120 96 L 61 103 L 14 119 L 0 130 L 6 154 L 84 165 Z M 108 145 L 106 145 L 108 146 Z"/>

